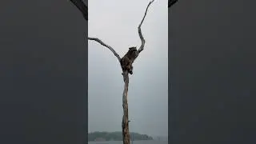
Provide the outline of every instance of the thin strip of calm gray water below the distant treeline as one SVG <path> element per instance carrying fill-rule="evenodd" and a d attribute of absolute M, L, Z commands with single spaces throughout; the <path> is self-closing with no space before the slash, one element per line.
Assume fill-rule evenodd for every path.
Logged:
<path fill-rule="evenodd" d="M 88 144 L 122 144 L 122 141 L 88 142 Z M 168 141 L 134 141 L 130 144 L 168 144 Z"/>

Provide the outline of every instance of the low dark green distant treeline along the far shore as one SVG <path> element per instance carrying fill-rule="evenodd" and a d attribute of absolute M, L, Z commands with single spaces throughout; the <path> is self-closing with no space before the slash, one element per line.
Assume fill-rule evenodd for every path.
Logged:
<path fill-rule="evenodd" d="M 93 132 L 88 134 L 88 141 L 92 142 L 97 139 L 105 141 L 122 141 L 122 132 Z M 153 140 L 146 134 L 130 133 L 130 139 L 133 140 Z"/>

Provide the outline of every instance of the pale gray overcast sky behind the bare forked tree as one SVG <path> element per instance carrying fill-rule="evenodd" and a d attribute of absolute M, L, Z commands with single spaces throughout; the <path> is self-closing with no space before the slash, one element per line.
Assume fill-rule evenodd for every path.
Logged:
<path fill-rule="evenodd" d="M 90 0 L 88 34 L 114 47 L 120 56 L 140 46 L 138 24 L 149 0 Z M 134 62 L 128 93 L 130 131 L 168 135 L 168 10 L 155 0 L 142 25 L 145 49 Z M 121 131 L 122 70 L 117 58 L 97 42 L 88 42 L 89 132 Z"/>

